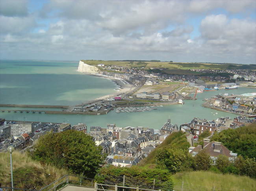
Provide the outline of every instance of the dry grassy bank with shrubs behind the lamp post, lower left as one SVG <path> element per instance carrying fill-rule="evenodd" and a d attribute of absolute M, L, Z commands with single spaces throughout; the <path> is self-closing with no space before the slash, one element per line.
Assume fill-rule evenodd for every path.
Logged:
<path fill-rule="evenodd" d="M 68 174 L 65 169 L 43 165 L 30 158 L 28 153 L 15 151 L 12 153 L 14 187 L 40 189 L 63 175 Z M 0 182 L 4 187 L 11 187 L 10 154 L 0 153 Z"/>

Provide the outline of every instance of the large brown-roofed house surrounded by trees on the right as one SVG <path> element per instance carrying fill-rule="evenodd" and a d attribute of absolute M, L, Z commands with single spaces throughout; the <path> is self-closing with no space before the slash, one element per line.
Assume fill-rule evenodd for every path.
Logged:
<path fill-rule="evenodd" d="M 210 155 L 213 162 L 217 160 L 219 155 L 227 156 L 230 161 L 234 161 L 237 156 L 237 153 L 233 153 L 232 151 L 228 150 L 221 144 L 221 142 L 210 142 L 210 139 L 204 139 L 204 144 L 202 146 L 198 145 L 197 147 L 189 149 L 189 153 L 191 153 L 192 156 L 195 156 L 201 150 L 204 150 L 208 155 Z"/>

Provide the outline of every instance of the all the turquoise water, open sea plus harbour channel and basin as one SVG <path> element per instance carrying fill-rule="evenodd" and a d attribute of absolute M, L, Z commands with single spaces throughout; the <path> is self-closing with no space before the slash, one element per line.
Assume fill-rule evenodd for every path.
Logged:
<path fill-rule="evenodd" d="M 77 72 L 78 63 L 79 60 L 1 60 L 0 104 L 76 105 L 116 92 L 117 85 L 111 80 Z M 197 100 L 184 100 L 184 105 L 156 107 L 156 110 L 145 112 L 110 111 L 107 115 L 8 113 L 2 112 L 1 109 L 13 108 L 0 107 L 0 118 L 33 122 L 67 122 L 72 125 L 84 123 L 87 127 L 116 124 L 118 127 L 161 129 L 168 119 L 180 126 L 191 122 L 194 117 L 207 120 L 216 120 L 221 116 L 234 118 L 237 115 L 202 107 L 203 100 L 224 93 L 240 95 L 253 92 L 256 92 L 256 89 L 247 87 L 207 91 L 198 93 Z"/>

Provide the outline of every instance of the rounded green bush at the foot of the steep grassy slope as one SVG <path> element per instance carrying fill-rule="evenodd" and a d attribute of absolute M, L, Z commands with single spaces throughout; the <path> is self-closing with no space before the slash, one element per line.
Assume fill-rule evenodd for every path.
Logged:
<path fill-rule="evenodd" d="M 193 162 L 192 156 L 187 150 L 164 147 L 158 150 L 156 155 L 157 164 L 168 169 L 171 173 L 180 171 L 181 167 L 189 168 Z"/>

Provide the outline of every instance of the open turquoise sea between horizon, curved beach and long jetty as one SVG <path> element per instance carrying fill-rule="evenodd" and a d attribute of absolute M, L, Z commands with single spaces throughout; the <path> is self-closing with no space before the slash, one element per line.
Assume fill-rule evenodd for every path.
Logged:
<path fill-rule="evenodd" d="M 0 104 L 76 105 L 113 93 L 111 80 L 77 67 L 78 62 L 0 61 Z"/>

